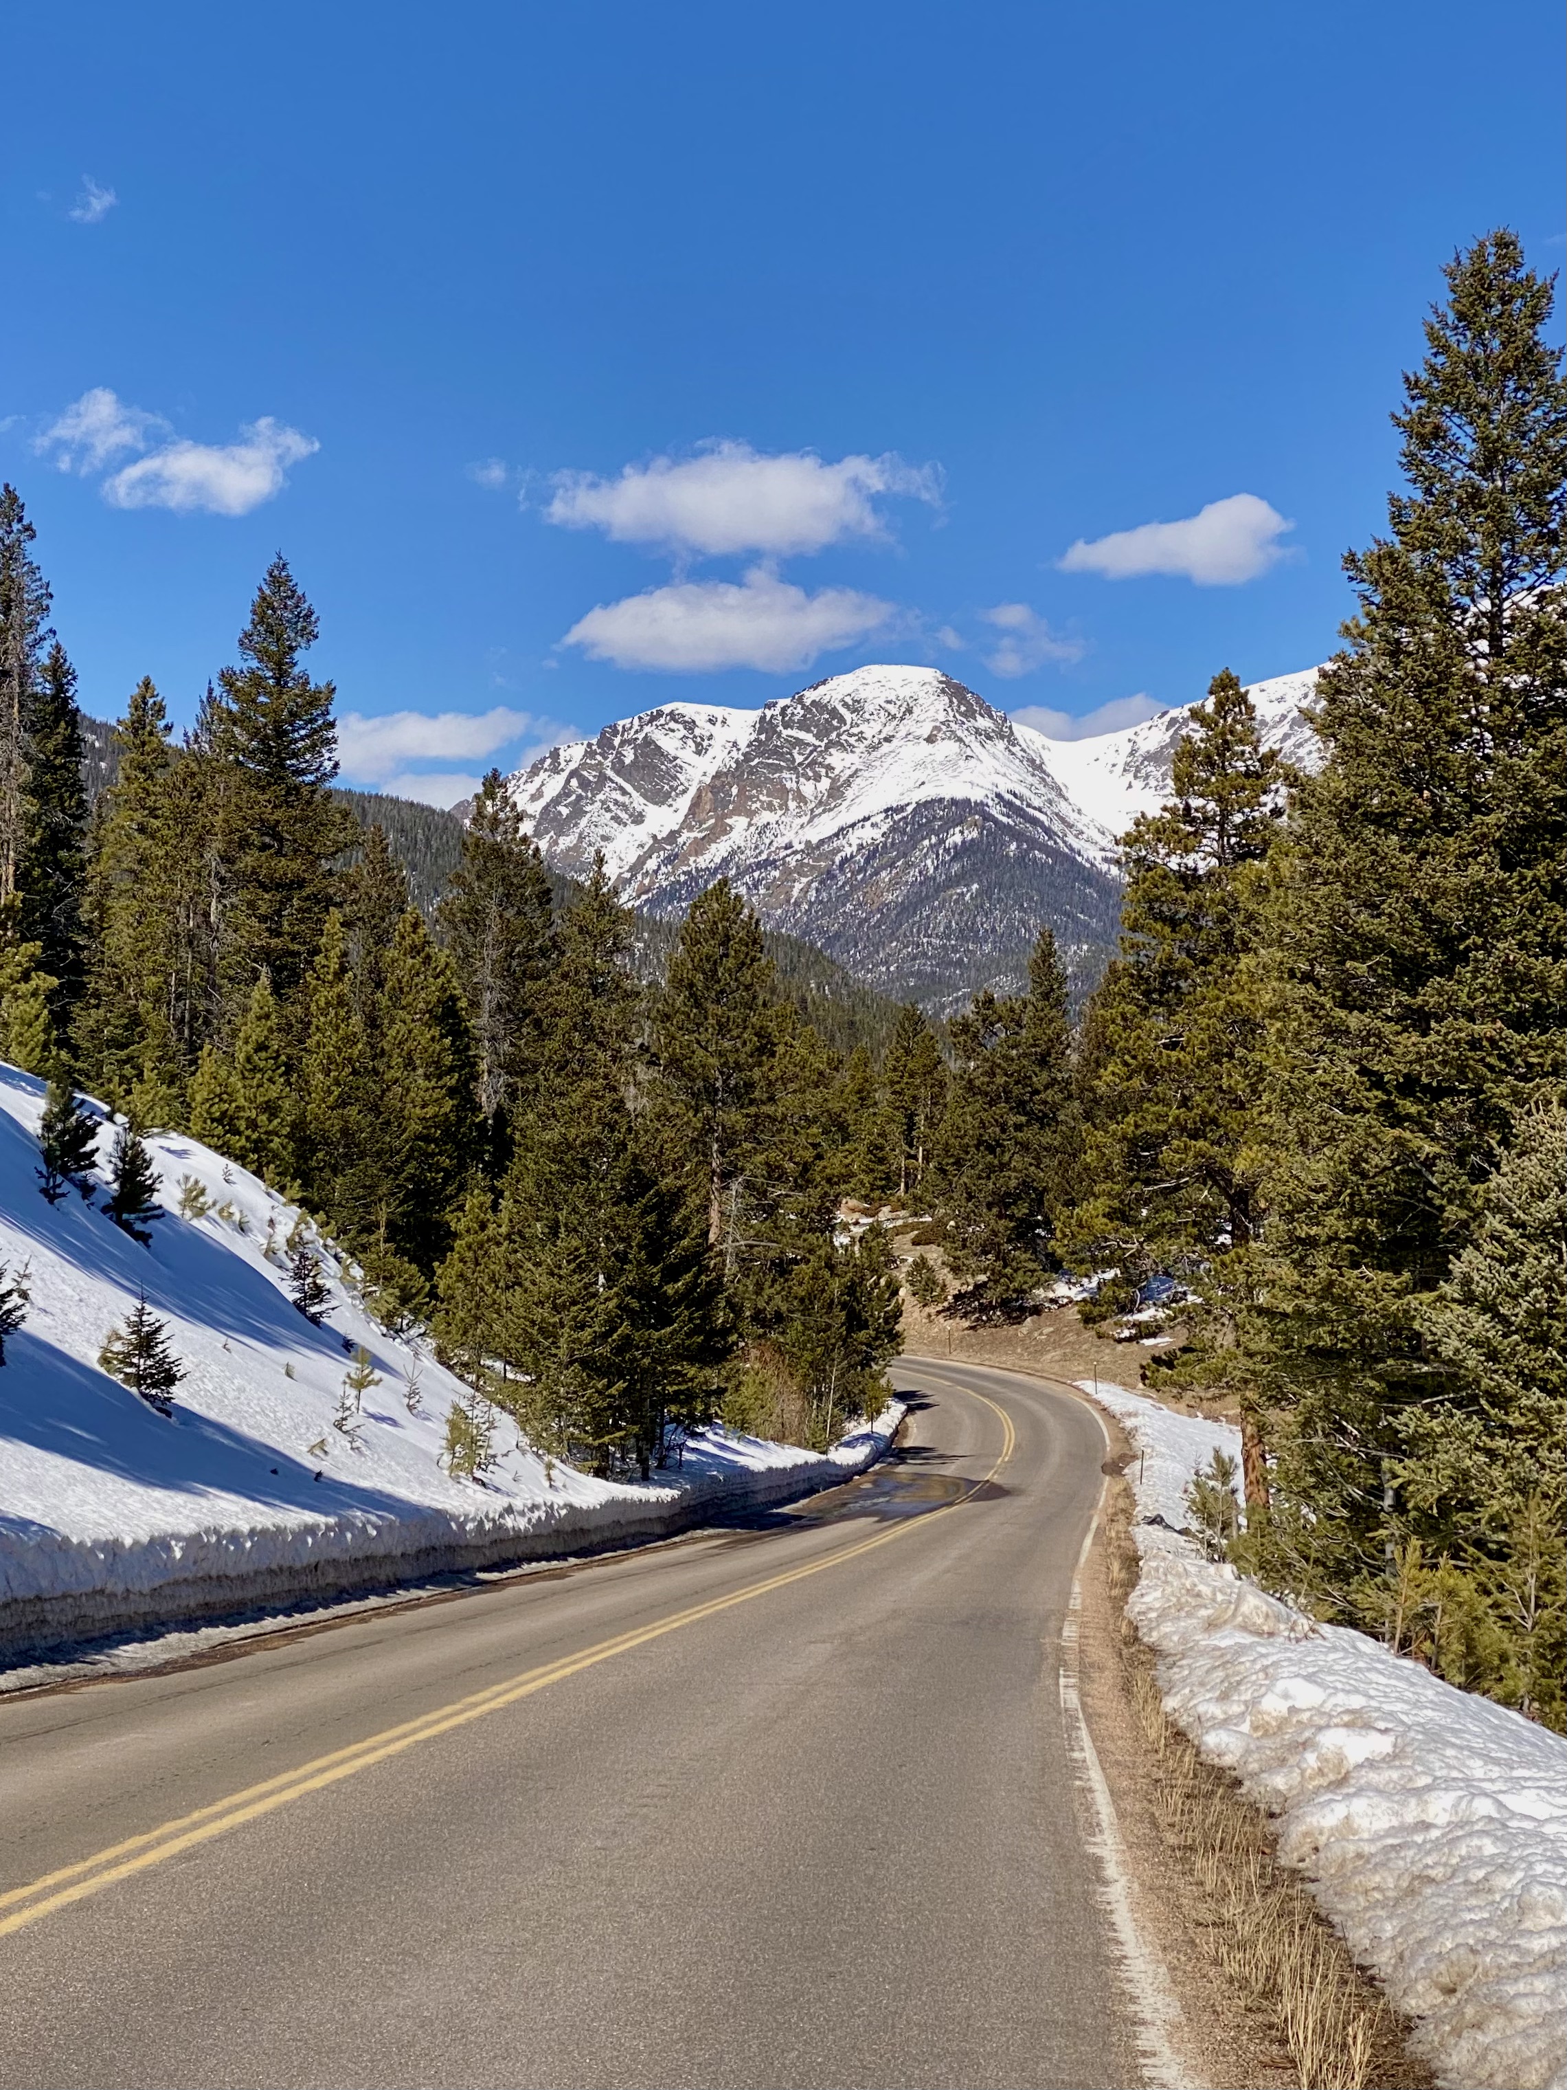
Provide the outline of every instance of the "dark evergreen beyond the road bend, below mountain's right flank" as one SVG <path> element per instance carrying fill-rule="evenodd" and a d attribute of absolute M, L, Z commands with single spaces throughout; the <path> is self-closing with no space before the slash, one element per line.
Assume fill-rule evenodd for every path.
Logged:
<path fill-rule="evenodd" d="M 1076 1187 L 1066 972 L 1040 930 L 1028 995 L 984 989 L 951 1024 L 953 1072 L 934 1187 L 949 1218 L 949 1262 L 969 1313 L 1018 1313 L 1057 1267 L 1055 1233 Z"/>

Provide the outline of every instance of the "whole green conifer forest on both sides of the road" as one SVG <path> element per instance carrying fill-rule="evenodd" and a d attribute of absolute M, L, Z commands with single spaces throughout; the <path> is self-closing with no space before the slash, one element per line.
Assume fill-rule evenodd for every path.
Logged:
<path fill-rule="evenodd" d="M 712 1417 L 827 1446 L 875 1413 L 905 1292 L 965 1325 L 1063 1275 L 1097 1279 L 1091 1321 L 1176 1296 L 1147 1373 L 1239 1404 L 1237 1565 L 1561 1728 L 1550 307 L 1508 232 L 1448 268 L 1402 485 L 1346 558 L 1320 765 L 1264 746 L 1214 663 L 1170 803 L 1122 838 L 1093 995 L 1040 924 L 1026 991 L 949 1020 L 846 1018 L 725 880 L 650 926 L 602 863 L 552 874 L 499 771 L 453 861 L 376 821 L 336 790 L 282 556 L 194 725 L 142 679 L 104 754 L 6 487 L 0 1053 L 52 1085 L 46 1193 L 81 1166 L 77 1093 L 121 1120 L 132 1231 L 138 1137 L 190 1133 L 315 1214 L 387 1327 L 426 1325 L 478 1402 L 606 1476 Z M 109 1363 L 171 1398 L 148 1329 Z"/>

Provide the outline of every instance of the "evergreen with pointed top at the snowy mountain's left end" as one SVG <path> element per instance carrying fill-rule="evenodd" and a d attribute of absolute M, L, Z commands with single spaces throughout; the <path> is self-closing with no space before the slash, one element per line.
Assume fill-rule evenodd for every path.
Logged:
<path fill-rule="evenodd" d="M 478 1108 L 497 1129 L 537 1078 L 541 986 L 556 957 L 549 878 L 499 769 L 472 803 L 462 863 L 439 909 L 478 1062 Z"/>

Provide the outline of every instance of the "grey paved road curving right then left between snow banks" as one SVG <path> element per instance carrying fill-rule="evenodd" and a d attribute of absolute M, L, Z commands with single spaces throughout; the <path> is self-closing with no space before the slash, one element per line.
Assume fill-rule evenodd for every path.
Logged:
<path fill-rule="evenodd" d="M 0 2084 L 1137 2084 L 1099 1425 L 894 1375 L 896 1463 L 763 1528 L 0 1708 Z"/>

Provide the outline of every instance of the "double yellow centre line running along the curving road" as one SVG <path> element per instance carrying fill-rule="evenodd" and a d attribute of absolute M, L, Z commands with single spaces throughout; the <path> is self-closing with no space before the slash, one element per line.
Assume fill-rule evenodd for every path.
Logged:
<path fill-rule="evenodd" d="M 984 1402 L 986 1409 L 1001 1417 L 1001 1457 L 984 1480 L 976 1480 L 974 1486 L 969 1486 L 955 1503 L 946 1503 L 944 1509 L 928 1511 L 923 1517 L 911 1517 L 907 1524 L 894 1524 L 892 1530 L 878 1532 L 875 1538 L 861 1538 L 852 1547 L 842 1547 L 838 1553 L 829 1553 L 823 1561 L 809 1561 L 804 1568 L 790 1568 L 784 1574 L 767 1576 L 761 1582 L 748 1582 L 744 1588 L 731 1590 L 727 1597 L 710 1597 L 706 1603 L 689 1605 L 685 1611 L 673 1611 L 669 1618 L 660 1618 L 650 1626 L 637 1626 L 631 1632 L 621 1632 L 610 1641 L 585 1647 L 575 1655 L 564 1655 L 560 1662 L 545 1662 L 535 1670 L 522 1670 L 516 1676 L 508 1676 L 499 1685 L 474 1691 L 470 1697 L 453 1699 L 449 1705 L 439 1705 L 435 1712 L 422 1714 L 418 1720 L 405 1720 L 401 1726 L 382 1728 L 382 1733 L 368 1735 L 364 1741 L 355 1741 L 347 1749 L 334 1749 L 330 1756 L 315 1756 L 307 1764 L 295 1764 L 293 1770 L 278 1772 L 274 1779 L 263 1779 L 259 1785 L 247 1785 L 238 1793 L 228 1793 L 211 1806 L 196 1808 L 194 1814 L 182 1814 L 176 1820 L 163 1822 L 159 1829 L 125 1837 L 123 1843 L 111 1843 L 107 1850 L 94 1852 L 92 1858 L 79 1858 L 75 1864 L 65 1864 L 54 1873 L 44 1873 L 42 1879 L 33 1879 L 25 1887 L 13 1887 L 8 1894 L 0 1894 L 0 1908 L 10 1910 L 6 1917 L 0 1917 L 0 1937 L 10 1931 L 27 1929 L 42 1917 L 54 1914 L 59 1908 L 69 1908 L 73 1902 L 81 1902 L 92 1894 L 102 1894 L 104 1887 L 115 1885 L 119 1879 L 146 1873 L 150 1866 L 163 1864 L 165 1858 L 176 1858 L 180 1852 L 194 1850 L 198 1843 L 211 1843 L 213 1837 L 228 1835 L 230 1829 L 238 1829 L 263 1814 L 272 1814 L 276 1808 L 288 1806 L 293 1799 L 303 1799 L 305 1793 L 318 1793 L 328 1785 L 336 1785 L 341 1779 L 353 1776 L 357 1770 L 368 1770 L 372 1764 L 384 1764 L 387 1758 L 401 1756 L 403 1749 L 412 1749 L 422 1741 L 435 1741 L 437 1735 L 449 1735 L 458 1726 L 468 1726 L 470 1720 L 483 1720 L 485 1714 L 499 1712 L 504 1705 L 514 1705 L 518 1699 L 531 1697 L 547 1685 L 564 1682 L 564 1678 L 591 1670 L 600 1662 L 612 1662 L 616 1655 L 625 1655 L 633 1647 L 646 1647 L 650 1641 L 660 1641 L 666 1632 L 679 1632 L 681 1626 L 694 1626 L 702 1618 L 717 1618 L 721 1611 L 729 1611 L 738 1603 L 750 1603 L 754 1597 L 767 1597 L 775 1588 L 788 1588 L 792 1582 L 804 1582 L 809 1576 L 823 1574 L 827 1568 L 840 1568 L 844 1561 L 859 1559 L 863 1553 L 873 1553 L 878 1547 L 892 1545 L 894 1538 L 903 1538 L 907 1532 L 928 1526 L 934 1517 L 951 1515 L 953 1509 L 961 1509 L 963 1503 L 972 1501 L 980 1488 L 995 1480 L 1001 1467 L 1011 1459 L 1018 1444 L 1018 1434 L 1005 1409 L 1001 1409 L 986 1394 L 972 1392 L 967 1386 L 961 1388 L 961 1392 L 969 1394 L 972 1400 Z"/>

